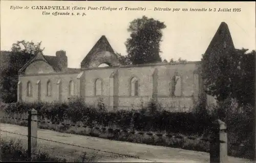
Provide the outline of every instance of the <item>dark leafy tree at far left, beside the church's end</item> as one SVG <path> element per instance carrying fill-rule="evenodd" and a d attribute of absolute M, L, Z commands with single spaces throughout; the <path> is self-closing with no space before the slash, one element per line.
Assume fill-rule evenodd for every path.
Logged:
<path fill-rule="evenodd" d="M 12 45 L 9 64 L 1 67 L 0 90 L 1 99 L 4 102 L 16 102 L 17 100 L 17 84 L 18 70 L 22 68 L 30 58 L 35 55 L 40 49 L 40 44 L 34 44 L 26 41 L 17 41 Z"/>

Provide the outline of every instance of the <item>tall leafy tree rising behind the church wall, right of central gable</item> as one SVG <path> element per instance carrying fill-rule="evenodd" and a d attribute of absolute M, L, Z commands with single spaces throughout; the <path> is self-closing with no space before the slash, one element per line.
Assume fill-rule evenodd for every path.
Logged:
<path fill-rule="evenodd" d="M 130 22 L 130 38 L 125 42 L 126 51 L 133 64 L 161 62 L 159 53 L 164 22 L 153 18 L 134 19 Z"/>

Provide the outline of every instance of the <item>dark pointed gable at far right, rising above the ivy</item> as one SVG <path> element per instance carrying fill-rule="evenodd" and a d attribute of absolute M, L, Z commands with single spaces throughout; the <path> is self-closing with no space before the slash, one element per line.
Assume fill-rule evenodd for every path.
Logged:
<path fill-rule="evenodd" d="M 232 37 L 230 35 L 228 25 L 225 22 L 221 22 L 219 29 L 212 38 L 205 53 L 209 54 L 212 51 L 219 51 L 223 49 L 234 49 Z"/>

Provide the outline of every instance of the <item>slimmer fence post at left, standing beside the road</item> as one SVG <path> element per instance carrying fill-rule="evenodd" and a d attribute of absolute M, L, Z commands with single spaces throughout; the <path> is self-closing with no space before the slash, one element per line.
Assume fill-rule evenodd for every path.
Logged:
<path fill-rule="evenodd" d="M 32 154 L 36 153 L 37 147 L 37 111 L 32 108 L 29 111 L 28 118 L 28 157 L 31 159 Z"/>

